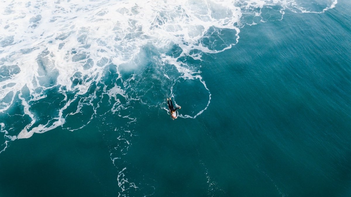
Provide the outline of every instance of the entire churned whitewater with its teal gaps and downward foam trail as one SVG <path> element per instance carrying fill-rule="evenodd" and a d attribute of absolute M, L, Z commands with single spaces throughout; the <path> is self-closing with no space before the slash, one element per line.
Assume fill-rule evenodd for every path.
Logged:
<path fill-rule="evenodd" d="M 200 73 L 201 55 L 231 48 L 245 25 L 282 20 L 286 10 L 320 13 L 336 4 L 337 0 L 3 1 L 1 150 L 33 133 L 81 129 L 109 113 L 128 120 L 114 131 L 121 134 L 118 141 L 129 146 L 134 132 L 130 127 L 137 122 L 132 103 L 161 108 L 165 95 L 187 80 L 198 81 L 208 95 L 203 108 L 179 115 L 196 118 L 211 101 Z M 100 111 L 101 105 L 110 111 Z M 114 156 L 118 151 L 111 148 L 113 163 L 121 159 Z"/>

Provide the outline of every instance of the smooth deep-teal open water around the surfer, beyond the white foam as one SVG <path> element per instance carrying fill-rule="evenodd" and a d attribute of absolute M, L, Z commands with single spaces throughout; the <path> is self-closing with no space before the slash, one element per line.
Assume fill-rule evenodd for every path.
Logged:
<path fill-rule="evenodd" d="M 130 94 L 144 100 L 119 114 L 92 85 L 101 102 L 91 122 L 99 101 L 1 152 L 0 196 L 350 196 L 350 10 L 340 1 L 320 14 L 286 11 L 283 20 L 243 27 L 231 49 L 185 59 L 201 65 L 211 93 L 196 118 L 169 117 L 162 100 L 171 92 L 152 77 L 152 62 L 122 71 L 139 77 Z M 122 84 L 106 69 L 107 86 Z M 57 91 L 31 109 L 57 113 L 43 110 L 62 105 Z M 176 80 L 172 93 L 181 114 L 208 103 L 199 80 Z M 28 124 L 15 106 L 2 120 Z"/>

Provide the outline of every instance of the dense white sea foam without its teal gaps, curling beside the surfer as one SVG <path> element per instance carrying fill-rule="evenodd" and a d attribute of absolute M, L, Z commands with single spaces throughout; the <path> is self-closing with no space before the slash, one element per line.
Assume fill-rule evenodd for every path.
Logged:
<path fill-rule="evenodd" d="M 120 70 L 132 72 L 145 66 L 148 61 L 153 61 L 147 59 L 149 53 L 145 47 L 153 47 L 155 51 L 160 51 L 154 59 L 160 57 L 161 63 L 175 65 L 184 79 L 200 80 L 204 84 L 209 95 L 207 106 L 194 116 L 179 115 L 196 118 L 210 104 L 210 90 L 206 87 L 200 72 L 189 69 L 185 62 L 179 61 L 179 57 L 201 59 L 202 53 L 219 53 L 231 48 L 239 41 L 241 27 L 268 20 L 264 12 L 272 12 L 279 16 L 278 20 L 281 20 L 285 9 L 293 12 L 321 13 L 334 8 L 337 4 L 337 0 L 311 2 L 302 4 L 296 0 L 1 1 L 0 66 L 10 70 L 6 79 L 0 81 L 0 99 L 3 99 L 0 101 L 0 113 L 6 113 L 18 95 L 24 109 L 22 115 L 31 118 L 29 124 L 21 131 L 17 131 L 17 137 L 8 138 L 11 140 L 27 138 L 33 133 L 43 133 L 62 126 L 67 116 L 79 113 L 83 105 L 92 105 L 94 95 L 90 95 L 88 102 L 79 101 L 77 111 L 64 117 L 63 111 L 71 103 L 81 95 L 86 95 L 92 84 L 103 79 L 106 67 L 113 65 L 120 75 Z M 317 4 L 323 9 L 314 9 L 312 5 Z M 273 6 L 276 8 L 273 9 Z M 263 8 L 269 11 L 263 12 Z M 220 36 L 223 29 L 231 30 L 234 39 L 223 40 L 224 38 Z M 215 34 L 218 34 L 217 37 Z M 181 48 L 178 57 L 165 53 L 173 46 Z M 165 74 L 162 76 L 165 80 L 172 80 L 171 76 Z M 130 79 L 124 79 L 124 82 L 134 80 L 134 77 L 135 74 Z M 29 98 L 21 96 L 24 87 L 29 90 Z M 59 87 L 59 93 L 65 96 L 65 104 L 58 109 L 57 117 L 33 127 L 40 118 L 32 113 L 30 102 L 45 99 L 46 91 L 53 87 Z M 129 100 L 140 99 L 127 96 L 125 87 L 117 84 L 112 89 L 106 87 L 105 94 L 108 94 L 110 99 L 114 97 L 117 100 L 111 109 L 113 113 L 128 108 L 121 104 L 117 95 Z M 68 99 L 67 93 L 75 93 L 75 96 Z"/>

